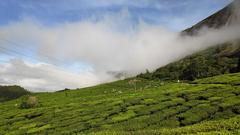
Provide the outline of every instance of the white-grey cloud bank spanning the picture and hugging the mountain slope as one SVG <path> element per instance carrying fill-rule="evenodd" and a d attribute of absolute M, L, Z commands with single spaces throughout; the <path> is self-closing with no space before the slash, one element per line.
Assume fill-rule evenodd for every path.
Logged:
<path fill-rule="evenodd" d="M 198 36 L 183 37 L 179 32 L 144 22 L 134 27 L 119 22 L 115 17 L 107 17 L 100 22 L 50 27 L 24 20 L 0 27 L 0 38 L 28 43 L 18 47 L 34 48 L 38 58 L 49 59 L 49 64 L 29 64 L 16 59 L 0 64 L 0 83 L 18 84 L 35 91 L 85 87 L 116 80 L 115 73 L 131 76 L 146 69 L 152 71 L 196 51 L 240 38 L 237 24 L 218 30 L 205 28 Z M 69 66 L 84 62 L 92 70 L 84 73 L 62 70 L 53 66 L 58 60 Z"/>

